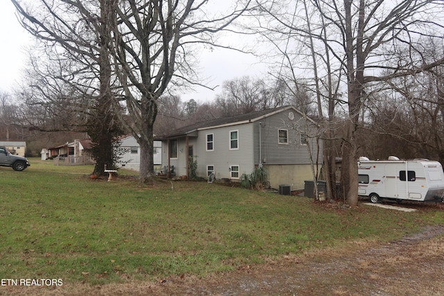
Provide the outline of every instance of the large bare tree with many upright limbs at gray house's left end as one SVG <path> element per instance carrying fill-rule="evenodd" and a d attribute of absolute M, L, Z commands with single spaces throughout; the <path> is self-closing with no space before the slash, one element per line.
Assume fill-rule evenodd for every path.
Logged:
<path fill-rule="evenodd" d="M 142 182 L 154 173 L 153 125 L 157 101 L 167 89 L 190 82 L 190 73 L 194 73 L 190 51 L 193 46 L 202 43 L 214 46 L 214 33 L 232 24 L 248 5 L 249 1 L 227 15 L 215 17 L 205 11 L 210 4 L 203 0 L 128 0 L 115 7 L 114 73 L 133 119 L 128 128 L 141 148 Z"/>

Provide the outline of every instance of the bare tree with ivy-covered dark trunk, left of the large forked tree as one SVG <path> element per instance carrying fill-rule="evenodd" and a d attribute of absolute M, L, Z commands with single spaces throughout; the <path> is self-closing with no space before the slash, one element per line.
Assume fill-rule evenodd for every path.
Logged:
<path fill-rule="evenodd" d="M 69 106 L 83 109 L 87 120 L 75 118 L 74 125 L 78 128 L 80 121 L 92 137 L 94 173 L 103 174 L 106 165 L 114 166 L 113 143 L 121 133 L 114 119 L 121 108 L 114 103 L 109 53 L 117 1 L 11 1 L 22 26 L 42 42 L 44 56 L 58 66 L 56 71 L 38 69 L 42 75 L 37 80 L 31 78 L 33 88 L 25 99 L 32 105 L 40 104 L 45 112 L 63 107 L 72 111 Z M 59 107 L 49 108 L 50 104 Z"/>

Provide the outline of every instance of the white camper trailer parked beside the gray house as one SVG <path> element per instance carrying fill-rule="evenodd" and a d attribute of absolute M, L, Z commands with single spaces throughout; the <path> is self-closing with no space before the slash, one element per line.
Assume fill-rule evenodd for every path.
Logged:
<path fill-rule="evenodd" d="M 439 162 L 428 159 L 369 160 L 358 162 L 358 194 L 371 202 L 391 200 L 443 201 L 444 173 Z"/>

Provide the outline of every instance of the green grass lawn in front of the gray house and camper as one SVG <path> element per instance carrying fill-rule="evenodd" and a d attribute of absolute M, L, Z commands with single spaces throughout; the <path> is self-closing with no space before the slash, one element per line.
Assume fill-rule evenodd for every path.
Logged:
<path fill-rule="evenodd" d="M 389 241 L 444 221 L 438 207 L 327 207 L 207 182 L 91 180 L 91 172 L 37 159 L 23 172 L 0 168 L 0 278 L 203 276 L 350 240 Z"/>

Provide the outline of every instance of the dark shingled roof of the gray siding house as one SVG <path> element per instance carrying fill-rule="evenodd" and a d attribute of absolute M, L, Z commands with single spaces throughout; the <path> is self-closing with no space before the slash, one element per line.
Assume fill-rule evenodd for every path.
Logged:
<path fill-rule="evenodd" d="M 172 138 L 172 137 L 185 136 L 187 134 L 191 134 L 192 132 L 196 132 L 198 130 L 205 130 L 205 129 L 209 129 L 209 128 L 219 128 L 219 127 L 223 127 L 223 126 L 251 123 L 251 122 L 255 122 L 255 121 L 264 119 L 267 116 L 271 116 L 273 114 L 276 114 L 276 113 L 279 113 L 279 112 L 282 112 L 285 110 L 290 110 L 290 109 L 293 110 L 294 112 L 298 112 L 299 114 L 301 114 L 303 116 L 302 112 L 300 112 L 299 110 L 297 110 L 293 106 L 279 107 L 279 108 L 274 108 L 274 109 L 250 112 L 250 113 L 246 113 L 246 114 L 222 117 L 222 118 L 213 119 L 210 121 L 201 121 L 199 123 L 194 123 L 191 125 L 184 126 L 182 128 L 178 128 L 176 130 L 172 130 L 168 134 L 164 134 L 163 137 L 157 137 L 157 139 L 168 139 L 168 138 Z"/>

